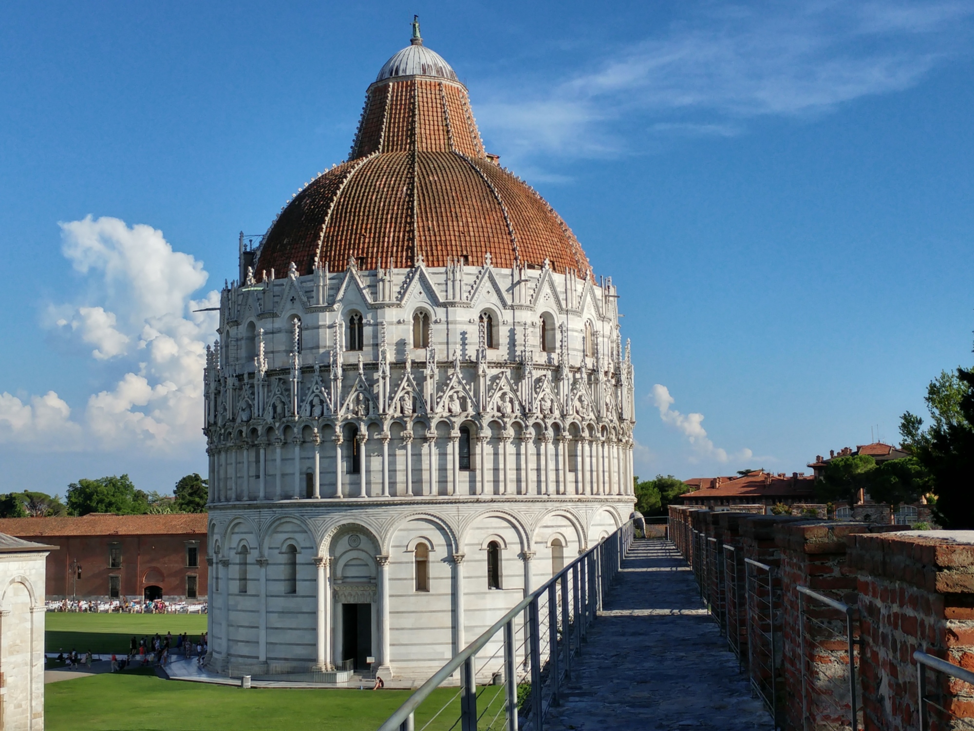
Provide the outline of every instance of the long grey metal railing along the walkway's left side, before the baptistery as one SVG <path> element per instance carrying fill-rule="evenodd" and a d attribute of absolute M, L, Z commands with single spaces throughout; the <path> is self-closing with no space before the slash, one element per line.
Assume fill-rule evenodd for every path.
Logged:
<path fill-rule="evenodd" d="M 451 708 L 455 708 L 458 699 L 459 714 L 453 716 L 456 720 L 450 728 L 542 731 L 544 715 L 559 703 L 563 682 L 571 678 L 573 657 L 581 652 L 587 628 L 601 608 L 602 598 L 632 540 L 633 527 L 629 521 L 525 596 L 489 630 L 433 673 L 379 731 L 417 731 L 417 710 L 458 670 L 459 689 L 431 713 L 418 731 L 444 712 L 452 714 Z M 518 636 L 521 642 L 515 644 Z M 491 650 L 490 656 L 478 657 Z M 523 660 L 518 662 L 517 658 Z M 478 675 L 484 679 L 503 677 L 503 682 L 500 688 L 495 682 L 482 684 L 478 690 Z M 519 704 L 519 691 L 525 685 L 529 691 Z M 519 715 L 526 716 L 527 723 L 522 723 Z"/>

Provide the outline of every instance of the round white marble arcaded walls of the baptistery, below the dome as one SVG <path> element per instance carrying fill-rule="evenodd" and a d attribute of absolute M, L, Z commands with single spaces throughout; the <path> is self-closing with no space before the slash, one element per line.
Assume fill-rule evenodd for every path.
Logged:
<path fill-rule="evenodd" d="M 489 255 L 243 280 L 206 367 L 210 667 L 421 677 L 628 517 L 611 280 Z"/>

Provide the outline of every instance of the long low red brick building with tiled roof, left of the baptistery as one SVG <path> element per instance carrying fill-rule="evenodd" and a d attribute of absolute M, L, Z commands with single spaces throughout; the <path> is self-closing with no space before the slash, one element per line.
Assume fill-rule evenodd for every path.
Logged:
<path fill-rule="evenodd" d="M 47 598 L 206 598 L 206 513 L 0 519 L 0 532 L 56 546 Z"/>

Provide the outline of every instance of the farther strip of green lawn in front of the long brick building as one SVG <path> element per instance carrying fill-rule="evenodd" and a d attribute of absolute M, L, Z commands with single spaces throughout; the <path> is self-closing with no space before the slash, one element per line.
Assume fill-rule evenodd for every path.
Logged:
<path fill-rule="evenodd" d="M 44 615 L 47 652 L 128 652 L 132 635 L 173 636 L 206 632 L 206 614 L 89 614 L 47 612 Z"/>

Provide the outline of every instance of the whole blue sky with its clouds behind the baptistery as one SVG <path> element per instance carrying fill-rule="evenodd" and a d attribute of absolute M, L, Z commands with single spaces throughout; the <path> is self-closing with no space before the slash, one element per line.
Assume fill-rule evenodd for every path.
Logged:
<path fill-rule="evenodd" d="M 413 13 L 618 286 L 641 476 L 896 441 L 970 364 L 974 3 L 278 5 L 0 6 L 0 491 L 205 471 L 190 310 Z"/>

